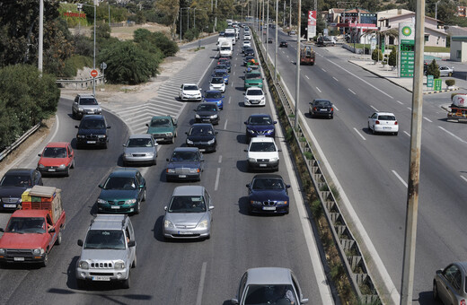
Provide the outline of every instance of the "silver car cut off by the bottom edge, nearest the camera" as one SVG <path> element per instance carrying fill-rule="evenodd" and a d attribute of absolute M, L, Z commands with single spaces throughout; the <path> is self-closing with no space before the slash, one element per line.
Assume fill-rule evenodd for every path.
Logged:
<path fill-rule="evenodd" d="M 232 304 L 304 304 L 302 290 L 292 270 L 280 267 L 248 269 Z"/>

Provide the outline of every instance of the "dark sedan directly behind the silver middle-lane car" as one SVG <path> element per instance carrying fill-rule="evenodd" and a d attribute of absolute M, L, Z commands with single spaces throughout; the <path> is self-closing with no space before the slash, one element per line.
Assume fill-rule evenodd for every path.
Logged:
<path fill-rule="evenodd" d="M 204 159 L 198 147 L 177 147 L 167 161 L 169 162 L 165 170 L 167 181 L 201 180 Z"/>

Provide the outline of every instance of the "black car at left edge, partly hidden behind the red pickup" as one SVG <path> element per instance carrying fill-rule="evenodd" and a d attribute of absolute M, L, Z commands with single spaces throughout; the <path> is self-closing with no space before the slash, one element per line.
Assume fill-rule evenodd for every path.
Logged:
<path fill-rule="evenodd" d="M 35 169 L 8 170 L 0 181 L 0 210 L 16 210 L 22 203 L 26 188 L 42 185 L 42 176 Z"/>

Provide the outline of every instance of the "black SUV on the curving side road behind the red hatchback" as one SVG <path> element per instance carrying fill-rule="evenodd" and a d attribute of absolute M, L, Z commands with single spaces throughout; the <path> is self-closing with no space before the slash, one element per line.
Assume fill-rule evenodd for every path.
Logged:
<path fill-rule="evenodd" d="M 84 145 L 101 146 L 107 148 L 109 142 L 108 130 L 110 126 L 102 115 L 84 116 L 81 120 L 76 135 L 76 148 L 81 148 Z"/>

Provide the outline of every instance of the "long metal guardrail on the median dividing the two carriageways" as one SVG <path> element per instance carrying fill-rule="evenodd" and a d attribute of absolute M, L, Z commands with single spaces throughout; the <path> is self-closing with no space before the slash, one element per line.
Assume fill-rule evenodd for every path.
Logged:
<path fill-rule="evenodd" d="M 352 288 L 357 293 L 358 301 L 362 304 L 381 304 L 382 301 L 374 287 L 371 276 L 368 274 L 365 258 L 358 247 L 357 240 L 348 228 L 348 224 L 339 208 L 338 200 L 336 200 L 336 196 L 331 190 L 330 183 L 324 175 L 324 170 L 326 169 L 322 168 L 322 163 L 319 157 L 317 157 L 316 146 L 312 141 L 313 136 L 308 135 L 306 129 L 303 128 L 303 116 L 300 116 L 300 113 L 295 114 L 295 105 L 291 97 L 289 97 L 284 90 L 286 84 L 280 77 L 278 77 L 278 82 L 274 82 L 271 75 L 274 74 L 275 67 L 269 61 L 264 45 L 258 41 L 256 35 L 254 36 L 258 42 L 257 46 L 260 47 L 261 65 L 263 68 L 268 69 L 269 85 L 274 87 L 274 90 L 278 93 L 278 99 L 285 109 L 286 119 L 294 132 L 295 143 L 298 144 L 300 148 L 302 159 L 306 161 L 307 172 L 313 181 L 315 193 L 320 198 L 322 208 L 332 232 L 333 240 L 339 249 L 339 257 L 346 267 L 346 272 L 352 284 Z M 271 96 L 274 95 L 271 94 Z M 295 115 L 299 115 L 299 118 L 302 117 L 298 121 L 297 129 L 293 127 Z"/>

